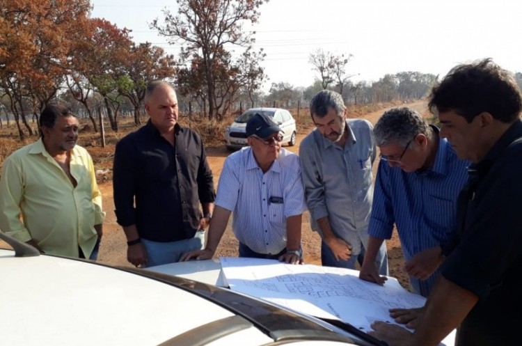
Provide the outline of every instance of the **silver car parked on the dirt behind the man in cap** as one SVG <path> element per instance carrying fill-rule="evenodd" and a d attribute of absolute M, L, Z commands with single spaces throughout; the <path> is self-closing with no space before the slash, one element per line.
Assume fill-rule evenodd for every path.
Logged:
<path fill-rule="evenodd" d="M 295 119 L 286 109 L 281 108 L 251 108 L 238 116 L 234 123 L 225 129 L 225 145 L 229 150 L 248 146 L 246 142 L 246 123 L 255 113 L 266 114 L 274 118 L 283 130 L 283 144 L 294 146 L 296 143 L 297 128 Z"/>

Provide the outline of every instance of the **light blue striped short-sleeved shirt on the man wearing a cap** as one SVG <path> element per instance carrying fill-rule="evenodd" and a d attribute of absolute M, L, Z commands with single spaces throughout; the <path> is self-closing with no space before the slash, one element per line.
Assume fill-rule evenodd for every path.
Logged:
<path fill-rule="evenodd" d="M 283 203 L 271 203 L 271 197 Z M 286 219 L 306 210 L 299 157 L 281 148 L 263 174 L 252 149 L 226 158 L 219 177 L 216 205 L 232 211 L 232 230 L 257 253 L 276 254 L 286 247 Z"/>

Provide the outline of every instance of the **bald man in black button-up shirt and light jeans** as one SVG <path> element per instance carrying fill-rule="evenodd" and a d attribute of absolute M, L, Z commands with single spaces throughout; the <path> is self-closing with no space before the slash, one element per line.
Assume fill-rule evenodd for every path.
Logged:
<path fill-rule="evenodd" d="M 216 196 L 200 136 L 177 123 L 172 86 L 148 84 L 145 110 L 150 120 L 118 142 L 113 164 L 116 217 L 136 267 L 201 249 Z"/>

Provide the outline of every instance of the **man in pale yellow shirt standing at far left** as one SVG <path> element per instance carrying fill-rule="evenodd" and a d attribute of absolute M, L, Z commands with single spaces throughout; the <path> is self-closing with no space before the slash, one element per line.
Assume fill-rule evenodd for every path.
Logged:
<path fill-rule="evenodd" d="M 47 104 L 40 126 L 42 138 L 3 162 L 0 230 L 45 253 L 96 259 L 105 213 L 93 160 L 76 145 L 78 119 Z"/>

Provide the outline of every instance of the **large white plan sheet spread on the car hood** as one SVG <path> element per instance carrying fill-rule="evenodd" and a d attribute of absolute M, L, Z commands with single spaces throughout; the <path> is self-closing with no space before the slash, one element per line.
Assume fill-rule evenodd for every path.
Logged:
<path fill-rule="evenodd" d="M 402 288 L 395 278 L 383 285 L 358 278 L 358 271 L 278 260 L 221 258 L 231 290 L 273 301 L 301 313 L 338 318 L 363 331 L 375 320 L 394 323 L 389 308 L 424 306 L 425 298 Z M 453 337 L 444 345 L 453 345 Z"/>

